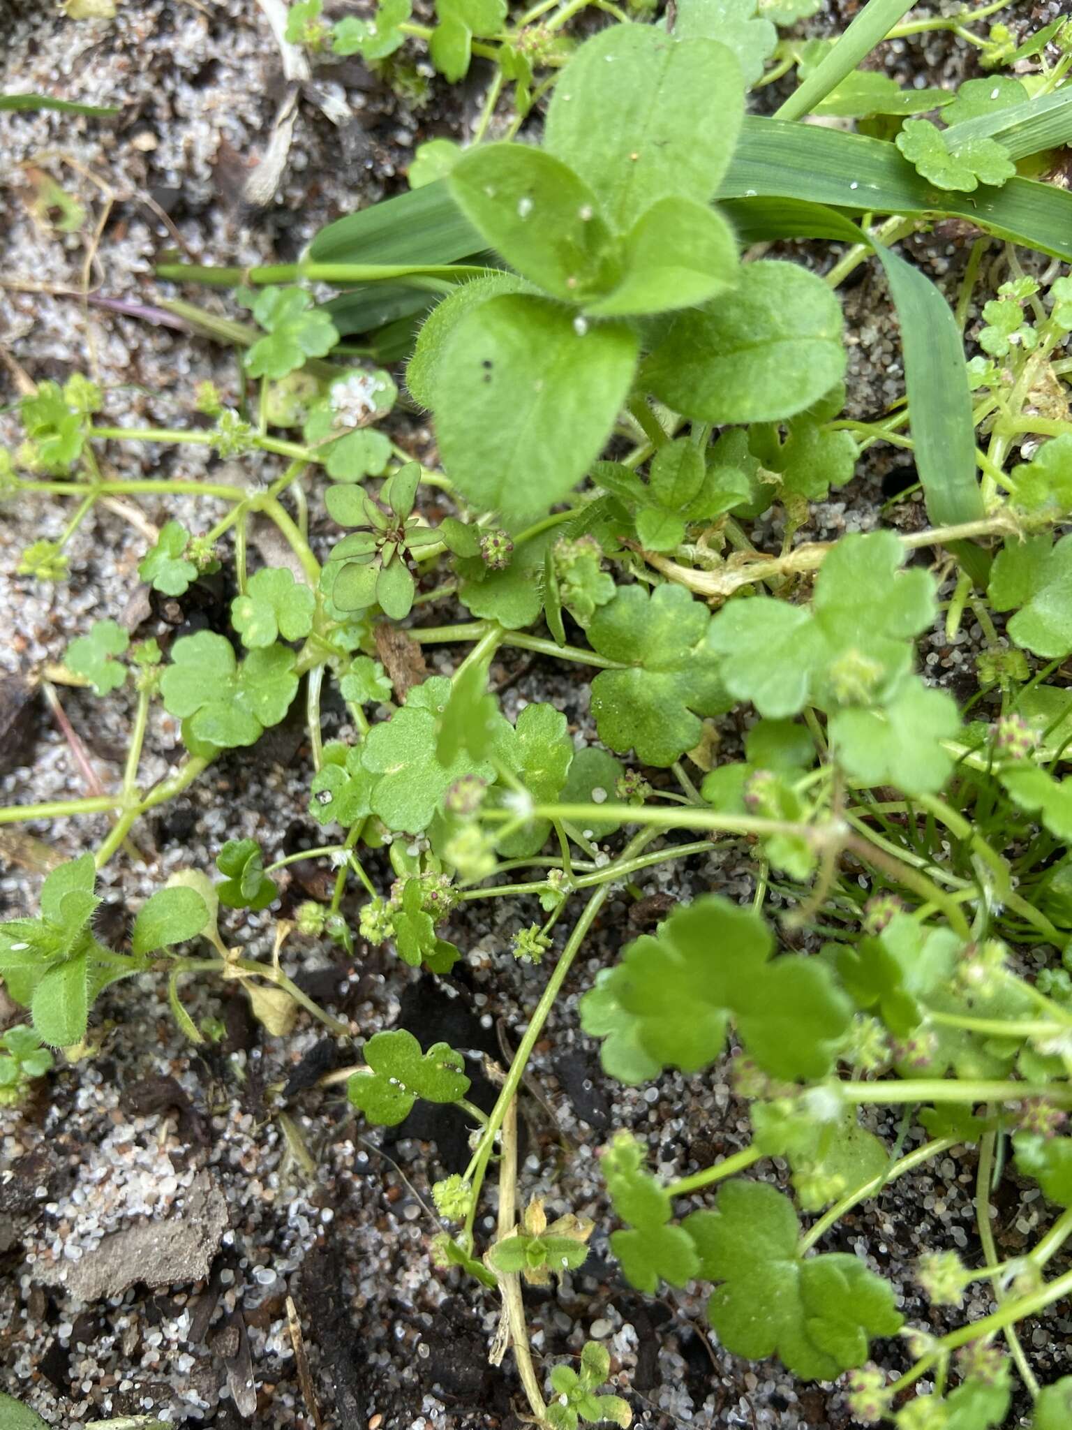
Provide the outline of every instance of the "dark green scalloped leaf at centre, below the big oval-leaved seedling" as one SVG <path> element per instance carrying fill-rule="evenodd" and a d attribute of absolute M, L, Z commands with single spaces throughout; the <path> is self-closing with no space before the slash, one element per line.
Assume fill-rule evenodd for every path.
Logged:
<path fill-rule="evenodd" d="M 700 716 L 729 708 L 709 639 L 710 615 L 683 586 L 620 586 L 587 628 L 593 649 L 629 669 L 592 682 L 599 738 L 633 748 L 647 765 L 672 765 L 699 744 Z"/>

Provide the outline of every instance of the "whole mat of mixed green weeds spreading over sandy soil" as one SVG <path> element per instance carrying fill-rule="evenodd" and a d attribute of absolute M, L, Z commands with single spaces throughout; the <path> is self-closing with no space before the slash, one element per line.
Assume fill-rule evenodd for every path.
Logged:
<path fill-rule="evenodd" d="M 712 889 L 673 908 L 653 934 L 623 937 L 580 1000 L 620 1083 L 702 1074 L 732 1050 L 753 1127 L 746 1150 L 669 1184 L 632 1134 L 609 1140 L 622 1274 L 646 1294 L 709 1287 L 722 1346 L 802 1380 L 846 1376 L 860 1423 L 1003 1426 L 1019 1377 L 1035 1430 L 1056 1430 L 1072 1423 L 1072 1377 L 1041 1386 L 1018 1326 L 1072 1294 L 1072 1271 L 1049 1271 L 1072 1233 L 1072 197 L 1045 182 L 1072 139 L 1072 31 L 1055 23 L 1015 49 L 1001 24 L 979 30 L 995 6 L 933 21 L 993 72 L 951 94 L 858 67 L 886 34 L 932 23 L 899 31 L 903 3 L 870 0 L 838 40 L 808 44 L 776 29 L 808 3 L 679 0 L 633 17 L 600 4 L 606 27 L 566 41 L 577 9 L 545 21 L 540 6 L 509 29 L 505 7 L 440 4 L 429 31 L 390 0 L 333 24 L 317 3 L 293 6 L 289 40 L 324 63 L 384 61 L 415 40 L 447 79 L 470 54 L 493 59 L 480 142 L 440 154 L 446 177 L 332 226 L 290 269 L 162 269 L 242 279 L 256 325 L 236 337 L 246 400 L 200 390 L 207 425 L 109 426 L 81 376 L 23 400 L 4 488 L 74 503 L 64 541 L 23 552 L 27 578 L 63 578 L 64 542 L 100 499 L 193 493 L 223 515 L 199 531 L 169 521 L 140 576 L 180 598 L 224 563 L 237 593 L 229 631 L 163 649 L 99 621 L 64 654 L 61 678 L 133 692 L 130 744 L 114 792 L 0 811 L 113 817 L 97 849 L 44 881 L 39 917 L 0 927 L 0 977 L 29 1018 L 3 1040 L 0 1098 L 49 1071 L 49 1047 L 84 1051 L 96 997 L 133 974 L 167 980 L 193 1042 L 212 1030 L 184 1005 L 190 977 L 237 981 L 272 1034 L 312 1017 L 349 1040 L 284 972 L 287 937 L 386 944 L 446 977 L 465 957 L 449 937 L 459 905 L 516 899 L 512 952 L 547 974 L 492 1111 L 467 1100 L 460 1051 L 403 1030 L 359 1047 L 349 1098 L 379 1125 L 422 1098 L 472 1117 L 469 1165 L 432 1188 L 439 1261 L 500 1294 L 497 1354 L 513 1347 L 536 1423 L 629 1424 L 627 1401 L 602 1389 L 599 1346 L 546 1380 L 533 1363 L 525 1286 L 583 1266 L 593 1227 L 549 1223 L 526 1197 L 516 1098 L 609 895 L 645 868 L 739 845 L 750 905 Z M 779 114 L 748 114 L 749 92 L 792 69 L 800 84 Z M 485 142 L 507 82 L 515 137 Z M 542 132 L 517 140 L 543 93 Z M 859 133 L 796 123 L 806 114 Z M 953 306 L 889 246 L 941 216 L 976 225 Z M 772 250 L 788 236 L 848 247 L 819 275 Z M 836 290 L 872 256 L 900 316 L 906 402 L 859 422 L 840 415 Z M 313 282 L 340 296 L 317 305 Z M 976 300 L 982 325 L 966 335 Z M 347 360 L 354 332 L 383 366 Z M 389 436 L 399 403 L 430 413 L 439 465 Z M 123 440 L 259 450 L 279 475 L 249 489 L 113 479 L 100 458 Z M 798 542 L 810 503 L 875 443 L 912 453 L 926 523 L 876 512 L 873 529 Z M 307 492 L 337 528 L 326 549 L 310 541 Z M 253 515 L 294 569 L 250 569 Z M 425 608 L 453 602 L 467 619 L 429 623 Z M 968 696 L 919 649 L 966 622 L 982 631 Z M 382 623 L 457 648 L 453 674 L 399 689 Z M 489 689 L 505 648 L 590 685 L 597 744 L 579 748 L 550 702 L 507 716 Z M 322 734 L 329 682 L 346 741 Z M 272 864 L 232 839 L 219 877 L 182 872 L 136 911 L 129 947 L 103 942 L 96 871 L 129 857 L 147 811 L 256 748 L 296 701 L 323 844 Z M 160 708 L 182 722 L 186 756 L 146 788 Z M 280 925 L 272 962 L 246 957 L 242 911 L 270 911 L 273 875 L 299 858 L 334 868 L 332 897 Z M 222 907 L 239 911 L 226 932 Z M 926 1140 L 888 1147 L 860 1123 L 869 1105 L 903 1110 L 905 1134 L 918 1124 Z M 963 1144 L 978 1147 L 981 1256 L 935 1247 L 918 1278 L 935 1307 L 986 1281 L 995 1308 L 939 1336 L 906 1324 L 896 1287 L 825 1238 Z M 1006 1148 L 1049 1216 L 1002 1261 L 989 1204 Z M 770 1158 L 789 1168 L 780 1187 L 750 1174 Z M 480 1244 L 489 1177 L 499 1231 Z M 882 1369 L 889 1337 L 910 1351 L 896 1377 Z"/>

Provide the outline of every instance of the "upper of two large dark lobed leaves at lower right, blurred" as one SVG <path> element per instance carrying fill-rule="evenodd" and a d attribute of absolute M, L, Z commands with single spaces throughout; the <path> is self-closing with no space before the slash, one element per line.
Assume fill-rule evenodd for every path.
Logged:
<path fill-rule="evenodd" d="M 773 1077 L 825 1077 L 852 1007 L 823 962 L 795 955 L 769 962 L 770 951 L 759 915 L 718 895 L 699 898 L 656 937 L 626 945 L 592 1008 L 593 994 L 582 998 L 582 1027 L 596 1031 L 613 1014 L 603 1058 L 616 1075 L 639 1065 L 637 1050 L 656 1067 L 696 1072 L 719 1057 L 733 1017 L 746 1050 Z M 682 1008 L 690 1010 L 686 1021 Z"/>

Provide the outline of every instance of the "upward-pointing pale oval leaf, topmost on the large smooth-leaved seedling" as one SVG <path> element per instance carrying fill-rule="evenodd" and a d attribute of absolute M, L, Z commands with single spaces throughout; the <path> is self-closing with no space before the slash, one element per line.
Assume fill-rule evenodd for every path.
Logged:
<path fill-rule="evenodd" d="M 545 147 L 595 190 L 613 229 L 670 194 L 708 203 L 743 116 L 736 56 L 708 39 L 616 24 L 586 40 L 556 83 Z"/>

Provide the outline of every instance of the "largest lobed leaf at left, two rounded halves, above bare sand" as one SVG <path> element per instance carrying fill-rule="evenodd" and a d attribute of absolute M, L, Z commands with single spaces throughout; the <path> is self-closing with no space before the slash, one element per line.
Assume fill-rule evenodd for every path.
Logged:
<path fill-rule="evenodd" d="M 250 651 L 237 665 L 230 642 L 212 631 L 182 636 L 160 678 L 164 706 L 189 721 L 186 732 L 204 745 L 253 745 L 277 725 L 297 694 L 294 652 L 282 645 Z"/>

